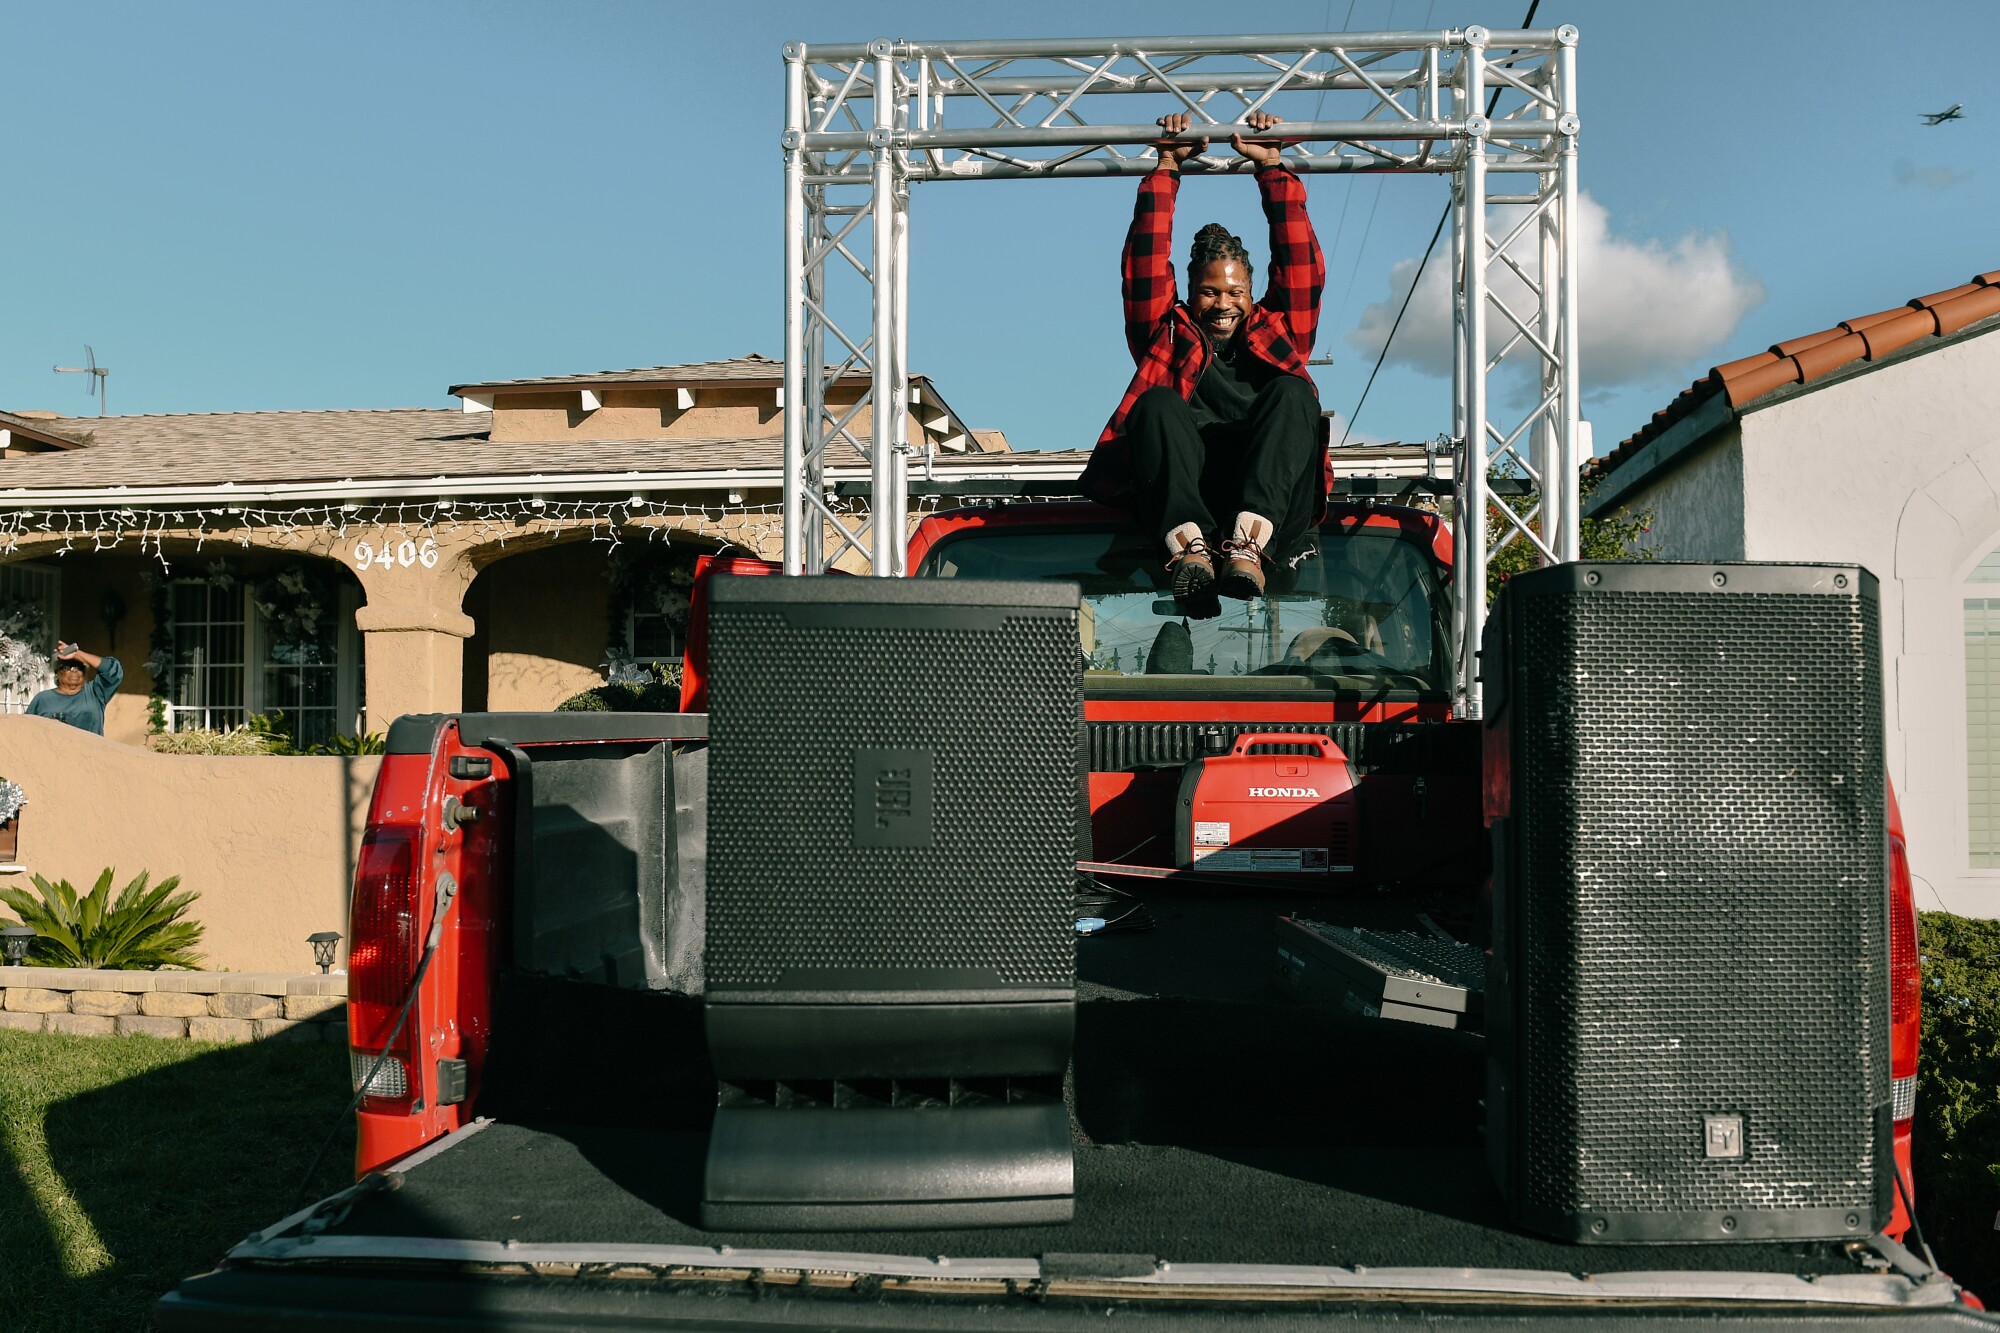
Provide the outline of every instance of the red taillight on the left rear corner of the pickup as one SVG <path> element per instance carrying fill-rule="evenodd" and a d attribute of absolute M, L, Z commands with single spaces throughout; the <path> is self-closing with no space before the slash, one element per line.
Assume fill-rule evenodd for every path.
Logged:
<path fill-rule="evenodd" d="M 410 1023 L 396 1031 L 418 955 L 418 831 L 384 825 L 362 839 L 354 871 L 354 911 L 348 945 L 348 1059 L 362 1111 L 410 1111 L 416 1103 Z M 396 1041 L 390 1043 L 394 1033 Z M 382 1047 L 388 1055 L 376 1065 Z M 370 1077 L 370 1069 L 374 1075 Z"/>

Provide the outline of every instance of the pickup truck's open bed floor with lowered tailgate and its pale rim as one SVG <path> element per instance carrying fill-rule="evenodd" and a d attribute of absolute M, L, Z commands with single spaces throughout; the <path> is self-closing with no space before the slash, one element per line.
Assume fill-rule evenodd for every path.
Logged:
<path fill-rule="evenodd" d="M 700 1007 L 512 975 L 496 1013 L 484 1119 L 398 1167 L 392 1187 L 252 1237 L 222 1273 L 168 1297 L 162 1327 L 264 1327 L 232 1325 L 226 1311 L 240 1293 L 268 1311 L 274 1295 L 258 1283 L 280 1275 L 290 1283 L 280 1289 L 300 1301 L 294 1315 L 312 1309 L 328 1327 L 348 1327 L 334 1305 L 370 1299 L 368 1283 L 408 1293 L 426 1271 L 498 1279 L 492 1291 L 512 1295 L 482 1295 L 482 1311 L 516 1297 L 534 1305 L 562 1277 L 702 1275 L 764 1293 L 772 1273 L 786 1273 L 778 1281 L 794 1297 L 800 1287 L 824 1297 L 826 1285 L 880 1297 L 888 1281 L 932 1295 L 1096 1293 L 1100 1311 L 1118 1283 L 1180 1281 L 1208 1299 L 1260 1293 L 1236 1313 L 1268 1305 L 1272 1291 L 1328 1301 L 1346 1289 L 1362 1297 L 1348 1301 L 1348 1315 L 1384 1303 L 1410 1313 L 1412 1303 L 1442 1299 L 1458 1319 L 1498 1299 L 1560 1317 L 1576 1301 L 1620 1297 L 1626 1313 L 1654 1315 L 1700 1301 L 1720 1321 L 1774 1311 L 1902 1313 L 1926 1327 L 1976 1319 L 1952 1303 L 1948 1281 L 1892 1243 L 1882 1245 L 1904 1273 L 1890 1271 L 1882 1249 L 1844 1243 L 1576 1247 L 1516 1231 L 1482 1161 L 1480 1035 L 1312 1009 L 1270 985 L 1280 913 L 1406 929 L 1420 903 L 1164 891 L 1146 901 L 1154 931 L 1078 943 L 1070 1225 L 702 1231 L 714 1085 Z M 326 1291 L 346 1295 L 304 1295 L 330 1261 L 346 1277 Z M 610 1299 L 606 1283 L 570 1287 L 584 1305 Z M 902 1327 L 872 1319 L 906 1305 L 840 1307 L 846 1315 L 816 1327 Z M 546 1327 L 594 1327 L 582 1307 L 562 1309 Z M 724 1319 L 728 1309 L 704 1305 L 702 1319 L 726 1325 L 738 1317 Z M 756 1317 L 774 1315 L 768 1301 L 760 1309 Z M 996 1309 L 1030 1323 L 1048 1313 L 1046 1301 Z M 1168 1313 L 1160 1301 L 1148 1309 Z M 176 1323 L 182 1317 L 188 1323 Z M 858 1323 L 844 1323 L 850 1317 Z M 358 1317 L 354 1327 L 374 1325 Z"/>

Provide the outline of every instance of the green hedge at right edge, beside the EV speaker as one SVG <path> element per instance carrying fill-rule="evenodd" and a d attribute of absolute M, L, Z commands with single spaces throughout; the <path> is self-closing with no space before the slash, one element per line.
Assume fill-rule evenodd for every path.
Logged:
<path fill-rule="evenodd" d="M 2000 1295 L 2000 921 L 1922 913 L 1924 1045 L 1916 1081 L 1916 1217 L 1944 1269 Z"/>

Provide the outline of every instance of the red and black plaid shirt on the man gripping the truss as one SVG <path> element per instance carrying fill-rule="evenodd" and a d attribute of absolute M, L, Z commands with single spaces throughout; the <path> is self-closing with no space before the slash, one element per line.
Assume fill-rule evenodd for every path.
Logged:
<path fill-rule="evenodd" d="M 1326 286 L 1326 258 L 1306 216 L 1306 186 L 1292 172 L 1266 168 L 1256 174 L 1270 222 L 1270 278 L 1264 296 L 1244 322 L 1244 346 L 1288 374 L 1312 380 L 1306 356 L 1320 326 L 1320 288 Z M 1180 304 L 1174 284 L 1174 196 L 1180 172 L 1152 172 L 1138 186 L 1132 230 L 1126 232 L 1120 274 L 1124 276 L 1126 346 L 1138 370 L 1126 384 L 1098 446 L 1084 468 L 1082 490 L 1094 500 L 1118 502 L 1132 488 L 1132 464 L 1120 434 L 1126 412 L 1148 388 L 1172 386 L 1182 398 L 1208 368 L 1208 338 Z M 1322 458 L 1326 458 L 1322 450 Z M 1326 486 L 1334 464 L 1324 460 Z M 1316 514 L 1316 518 L 1324 518 Z"/>

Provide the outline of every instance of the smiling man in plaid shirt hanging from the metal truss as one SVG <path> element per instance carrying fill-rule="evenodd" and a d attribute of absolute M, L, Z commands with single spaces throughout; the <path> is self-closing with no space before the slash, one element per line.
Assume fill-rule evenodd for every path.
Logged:
<path fill-rule="evenodd" d="M 1246 116 L 1268 130 L 1278 116 Z M 1286 558 L 1326 516 L 1332 462 L 1306 370 L 1326 260 L 1306 218 L 1306 186 L 1278 140 L 1230 136 L 1256 164 L 1270 220 L 1270 278 L 1252 304 L 1250 256 L 1210 222 L 1188 258 L 1188 300 L 1174 292 L 1180 164 L 1208 140 L 1180 140 L 1188 116 L 1160 116 L 1160 160 L 1140 182 L 1122 260 L 1126 344 L 1138 372 L 1098 436 L 1082 488 L 1130 508 L 1166 542 L 1174 600 L 1192 618 L 1218 594 L 1258 596 L 1264 564 Z M 1228 536 L 1216 514 L 1234 512 Z M 1216 568 L 1220 560 L 1220 570 Z"/>

